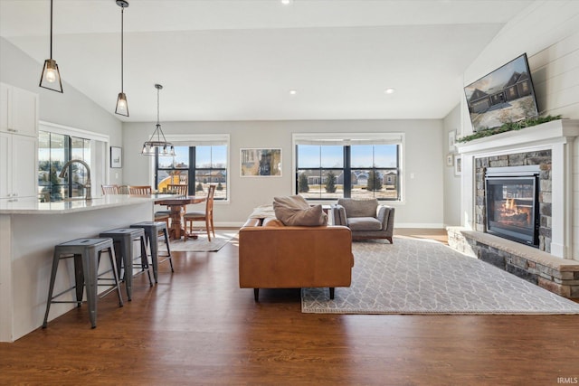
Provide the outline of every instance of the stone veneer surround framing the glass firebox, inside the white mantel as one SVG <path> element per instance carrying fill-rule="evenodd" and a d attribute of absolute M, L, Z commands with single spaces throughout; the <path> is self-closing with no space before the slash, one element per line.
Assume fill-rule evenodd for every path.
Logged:
<path fill-rule="evenodd" d="M 539 165 L 539 249 L 551 252 L 551 150 L 512 155 L 494 155 L 476 159 L 476 230 L 487 231 L 485 171 L 487 167 Z"/>

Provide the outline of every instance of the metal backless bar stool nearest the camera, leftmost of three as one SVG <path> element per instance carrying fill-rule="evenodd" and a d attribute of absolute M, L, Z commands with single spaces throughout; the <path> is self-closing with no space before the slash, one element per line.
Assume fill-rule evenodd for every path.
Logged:
<path fill-rule="evenodd" d="M 102 252 L 107 252 L 109 254 L 110 265 L 112 266 L 114 277 L 112 278 L 114 281 L 112 284 L 99 284 L 99 280 L 107 279 L 100 278 L 99 275 L 100 254 Z M 74 259 L 75 285 L 55 296 L 52 296 L 59 262 L 61 259 L 71 258 Z M 111 279 L 109 278 L 108 280 Z M 54 256 L 52 258 L 51 284 L 48 290 L 48 301 L 46 302 L 46 313 L 44 314 L 43 328 L 46 328 L 48 323 L 48 313 L 51 309 L 51 304 L 76 303 L 77 306 L 80 307 L 82 303 L 82 292 L 84 287 L 86 287 L 87 292 L 90 325 L 92 328 L 95 328 L 97 326 L 97 299 L 99 297 L 97 288 L 99 286 L 111 287 L 105 294 L 102 295 L 103 297 L 108 295 L 116 288 L 119 295 L 119 306 L 123 306 L 123 299 L 120 296 L 119 276 L 117 276 L 117 263 L 115 261 L 115 252 L 112 239 L 76 239 L 58 244 L 56 247 L 54 247 Z M 54 300 L 56 297 L 60 297 L 74 288 L 76 288 L 76 300 Z"/>

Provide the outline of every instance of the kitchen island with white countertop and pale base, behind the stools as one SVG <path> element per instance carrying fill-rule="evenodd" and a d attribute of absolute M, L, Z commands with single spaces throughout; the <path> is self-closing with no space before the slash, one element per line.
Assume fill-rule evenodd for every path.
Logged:
<path fill-rule="evenodd" d="M 166 197 L 118 194 L 90 201 L 0 200 L 0 342 L 14 342 L 43 324 L 55 245 L 152 221 L 155 202 Z M 100 271 L 109 269 L 106 260 L 102 259 Z M 71 287 L 73 275 L 72 262 L 62 261 L 55 293 Z M 72 300 L 72 292 L 62 300 Z M 73 307 L 53 304 L 49 321 Z"/>

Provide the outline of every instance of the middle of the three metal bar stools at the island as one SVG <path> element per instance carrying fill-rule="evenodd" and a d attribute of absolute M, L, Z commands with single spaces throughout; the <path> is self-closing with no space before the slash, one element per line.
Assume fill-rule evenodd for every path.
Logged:
<path fill-rule="evenodd" d="M 140 241 L 141 244 L 141 262 L 139 264 L 141 272 L 145 272 L 147 268 L 148 282 L 153 286 L 151 280 L 151 272 L 148 269 L 147 261 L 147 245 L 145 241 L 145 231 L 142 228 L 117 228 L 110 231 L 100 233 L 100 237 L 110 238 L 115 247 L 115 255 L 117 256 L 117 272 L 120 278 L 120 268 L 125 269 L 123 281 L 125 282 L 125 289 L 127 289 L 128 301 L 132 298 L 133 293 L 133 241 Z M 122 262 L 122 264 L 121 264 Z"/>

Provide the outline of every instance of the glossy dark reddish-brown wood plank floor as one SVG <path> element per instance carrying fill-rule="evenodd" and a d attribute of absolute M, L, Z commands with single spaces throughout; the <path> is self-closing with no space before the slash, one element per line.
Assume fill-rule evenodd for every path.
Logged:
<path fill-rule="evenodd" d="M 555 385 L 579 377 L 576 315 L 301 314 L 299 290 L 261 290 L 256 304 L 252 289 L 238 287 L 234 242 L 174 260 L 176 272 L 161 266 L 155 287 L 137 277 L 124 307 L 101 299 L 94 330 L 82 306 L 0 344 L 0 384 Z"/>

